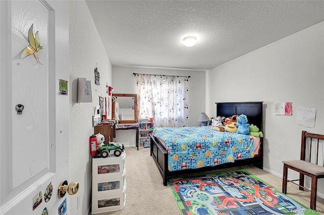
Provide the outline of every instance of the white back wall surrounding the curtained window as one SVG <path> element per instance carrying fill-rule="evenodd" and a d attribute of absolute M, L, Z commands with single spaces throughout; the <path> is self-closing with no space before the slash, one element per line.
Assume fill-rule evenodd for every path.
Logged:
<path fill-rule="evenodd" d="M 205 112 L 204 71 L 113 66 L 112 84 L 114 93 L 137 93 L 136 77 L 133 73 L 190 76 L 188 126 L 200 125 L 197 119 L 201 112 Z M 118 130 L 116 131 L 116 138 L 117 142 L 123 142 L 125 146 L 135 146 L 135 130 Z"/>

